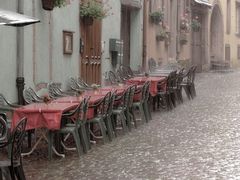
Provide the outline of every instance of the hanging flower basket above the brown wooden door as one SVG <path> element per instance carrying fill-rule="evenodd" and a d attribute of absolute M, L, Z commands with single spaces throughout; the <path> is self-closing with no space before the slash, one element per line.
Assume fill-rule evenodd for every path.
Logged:
<path fill-rule="evenodd" d="M 80 17 L 86 25 L 92 25 L 94 19 L 103 19 L 109 9 L 97 0 L 87 0 L 80 3 Z"/>

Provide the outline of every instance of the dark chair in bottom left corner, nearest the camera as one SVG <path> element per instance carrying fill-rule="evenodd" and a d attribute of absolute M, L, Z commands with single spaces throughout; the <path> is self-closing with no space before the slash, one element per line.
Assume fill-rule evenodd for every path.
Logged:
<path fill-rule="evenodd" d="M 2 170 L 5 170 L 11 179 L 25 180 L 25 175 L 22 167 L 21 150 L 25 136 L 27 119 L 23 118 L 19 121 L 17 126 L 6 143 L 0 144 L 0 148 L 11 145 L 11 157 L 7 160 L 0 161 L 0 179 L 2 179 Z M 8 177 L 7 177 L 8 178 Z"/>

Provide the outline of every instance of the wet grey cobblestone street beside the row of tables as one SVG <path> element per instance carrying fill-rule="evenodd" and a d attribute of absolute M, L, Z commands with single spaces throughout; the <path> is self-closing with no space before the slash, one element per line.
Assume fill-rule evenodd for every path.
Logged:
<path fill-rule="evenodd" d="M 27 179 L 240 179 L 240 72 L 197 74 L 196 91 L 81 158 L 24 157 Z"/>

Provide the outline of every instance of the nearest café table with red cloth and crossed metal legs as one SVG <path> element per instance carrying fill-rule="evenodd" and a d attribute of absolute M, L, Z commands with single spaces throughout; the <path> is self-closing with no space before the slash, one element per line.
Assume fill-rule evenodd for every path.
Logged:
<path fill-rule="evenodd" d="M 41 136 L 33 146 L 32 150 L 28 153 L 23 153 L 23 155 L 31 154 L 36 149 L 39 142 L 42 139 L 45 139 L 46 141 L 49 141 L 49 159 L 52 158 L 52 150 L 58 156 L 64 157 L 64 155 L 59 154 L 54 147 L 50 146 L 53 142 L 53 131 L 60 129 L 62 114 L 66 111 L 74 109 L 77 105 L 78 103 L 32 103 L 15 109 L 11 124 L 12 129 L 16 127 L 19 119 L 23 117 L 27 118 L 26 130 L 41 129 Z M 48 138 L 46 137 L 46 131 L 44 131 L 45 129 L 48 130 Z"/>

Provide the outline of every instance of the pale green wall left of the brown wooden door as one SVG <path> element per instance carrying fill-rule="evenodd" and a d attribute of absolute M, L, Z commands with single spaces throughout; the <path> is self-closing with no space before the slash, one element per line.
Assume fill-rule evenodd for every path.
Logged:
<path fill-rule="evenodd" d="M 46 11 L 40 0 L 0 0 L 2 9 L 40 19 L 25 27 L 0 27 L 1 88 L 7 99 L 17 102 L 17 77 L 26 87 L 39 83 L 61 82 L 66 87 L 70 76 L 79 76 L 79 0 Z M 64 31 L 69 32 L 72 45 L 64 52 Z M 68 39 L 66 39 L 68 40 Z M 21 63 L 20 63 L 21 62 Z"/>

